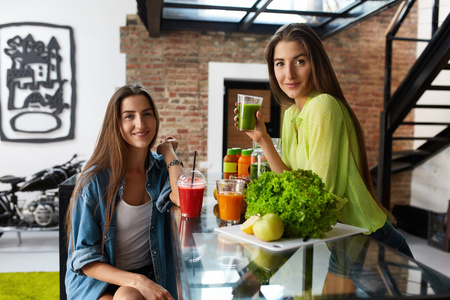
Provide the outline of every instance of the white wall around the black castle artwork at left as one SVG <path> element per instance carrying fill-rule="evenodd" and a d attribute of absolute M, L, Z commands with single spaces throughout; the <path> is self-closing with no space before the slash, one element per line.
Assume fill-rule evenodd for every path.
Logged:
<path fill-rule="evenodd" d="M 120 27 L 126 25 L 126 15 L 136 11 L 135 0 L 1 0 L 0 24 L 41 22 L 72 27 L 77 99 L 75 139 L 44 144 L 0 141 L 0 176 L 28 176 L 63 163 L 74 153 L 90 156 L 106 104 L 115 89 L 125 84 Z"/>

